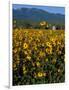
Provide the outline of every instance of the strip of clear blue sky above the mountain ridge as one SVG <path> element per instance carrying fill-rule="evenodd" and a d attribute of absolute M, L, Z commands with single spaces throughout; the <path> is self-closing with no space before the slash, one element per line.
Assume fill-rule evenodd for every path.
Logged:
<path fill-rule="evenodd" d="M 38 9 L 42 9 L 42 10 L 48 11 L 50 13 L 65 14 L 65 8 L 64 7 L 13 4 L 13 8 L 14 9 L 20 9 L 20 8 L 38 8 Z"/>

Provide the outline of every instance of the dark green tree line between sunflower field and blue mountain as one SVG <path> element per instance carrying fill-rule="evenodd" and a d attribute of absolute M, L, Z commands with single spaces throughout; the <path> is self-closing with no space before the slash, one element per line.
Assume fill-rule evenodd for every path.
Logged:
<path fill-rule="evenodd" d="M 13 28 L 22 29 L 52 29 L 52 30 L 64 30 L 65 26 L 62 24 L 50 24 L 47 21 L 41 21 L 39 23 L 33 23 L 31 21 L 17 21 L 13 20 Z"/>

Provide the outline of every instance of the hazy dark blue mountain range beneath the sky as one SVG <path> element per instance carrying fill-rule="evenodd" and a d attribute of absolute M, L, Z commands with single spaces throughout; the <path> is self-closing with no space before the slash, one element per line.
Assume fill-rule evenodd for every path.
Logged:
<path fill-rule="evenodd" d="M 47 21 L 50 24 L 65 24 L 65 15 L 54 14 L 37 8 L 13 9 L 13 19 L 34 23 Z"/>

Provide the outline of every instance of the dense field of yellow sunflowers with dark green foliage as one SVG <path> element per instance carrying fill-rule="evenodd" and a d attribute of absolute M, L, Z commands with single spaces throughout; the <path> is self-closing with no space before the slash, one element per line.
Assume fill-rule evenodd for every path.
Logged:
<path fill-rule="evenodd" d="M 13 85 L 65 81 L 64 30 L 13 30 Z"/>

